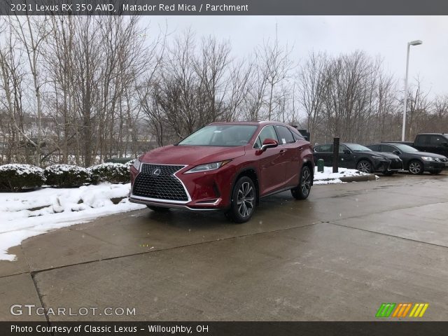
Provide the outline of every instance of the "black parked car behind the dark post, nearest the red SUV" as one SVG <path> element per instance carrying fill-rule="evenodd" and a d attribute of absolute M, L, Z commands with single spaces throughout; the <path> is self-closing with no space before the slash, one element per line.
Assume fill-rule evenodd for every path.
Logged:
<path fill-rule="evenodd" d="M 323 159 L 325 166 L 331 166 L 333 145 L 323 144 L 314 147 L 314 162 Z M 391 153 L 374 152 L 359 144 L 339 144 L 339 167 L 358 169 L 360 172 L 379 172 L 392 175 L 402 169 L 402 161 Z"/>

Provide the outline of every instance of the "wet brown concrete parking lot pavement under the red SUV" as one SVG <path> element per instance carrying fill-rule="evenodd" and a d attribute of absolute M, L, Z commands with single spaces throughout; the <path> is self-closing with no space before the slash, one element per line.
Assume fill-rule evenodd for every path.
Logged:
<path fill-rule="evenodd" d="M 245 224 L 145 209 L 32 237 L 0 262 L 0 320 L 374 321 L 382 302 L 428 302 L 421 320 L 447 320 L 447 183 L 381 176 L 267 197 Z"/>

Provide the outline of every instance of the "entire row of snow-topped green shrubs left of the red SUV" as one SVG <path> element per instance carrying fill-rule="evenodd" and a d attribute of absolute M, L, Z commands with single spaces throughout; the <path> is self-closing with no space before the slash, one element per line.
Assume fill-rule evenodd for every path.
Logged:
<path fill-rule="evenodd" d="M 17 192 L 39 188 L 43 185 L 55 188 L 71 188 L 101 182 L 127 183 L 133 160 L 121 163 L 103 163 L 90 168 L 73 165 L 52 165 L 41 169 L 32 165 L 0 166 L 0 190 Z"/>

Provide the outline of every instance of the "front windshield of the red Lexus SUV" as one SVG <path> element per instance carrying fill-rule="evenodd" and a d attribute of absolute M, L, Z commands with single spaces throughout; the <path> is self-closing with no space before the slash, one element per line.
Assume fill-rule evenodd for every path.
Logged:
<path fill-rule="evenodd" d="M 248 144 L 257 127 L 256 125 L 209 125 L 190 134 L 179 142 L 179 146 L 244 146 Z"/>

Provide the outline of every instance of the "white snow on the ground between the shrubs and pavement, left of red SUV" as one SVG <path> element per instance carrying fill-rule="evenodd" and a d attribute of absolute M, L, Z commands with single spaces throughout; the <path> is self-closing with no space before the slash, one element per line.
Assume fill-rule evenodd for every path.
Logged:
<path fill-rule="evenodd" d="M 130 203 L 127 198 L 113 204 L 111 199 L 126 197 L 129 190 L 130 183 L 104 183 L 0 193 L 0 260 L 15 260 L 15 255 L 6 251 L 29 237 L 102 216 L 144 209 L 144 205 Z"/>

